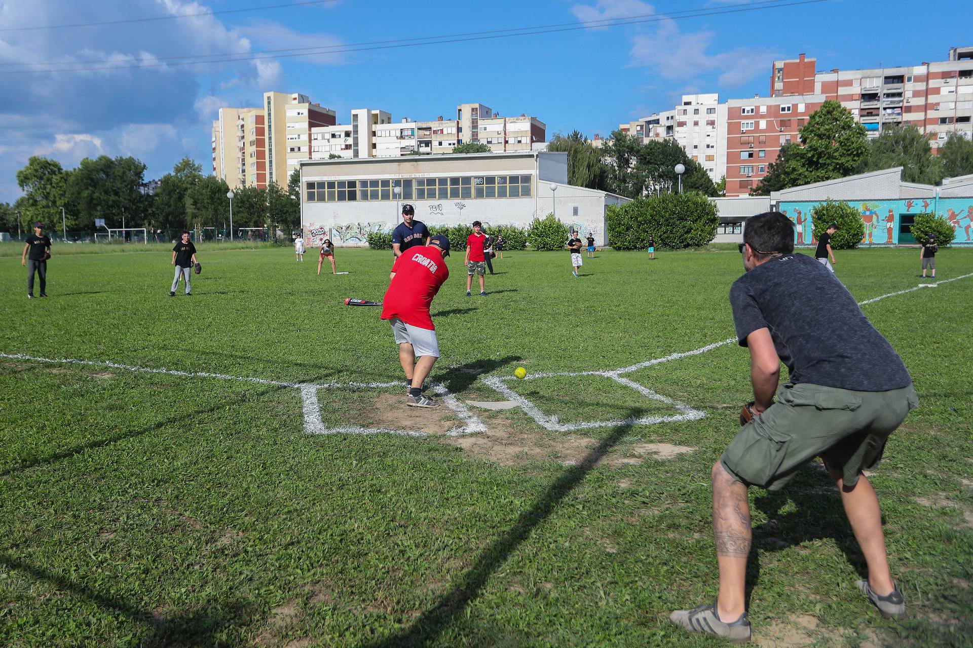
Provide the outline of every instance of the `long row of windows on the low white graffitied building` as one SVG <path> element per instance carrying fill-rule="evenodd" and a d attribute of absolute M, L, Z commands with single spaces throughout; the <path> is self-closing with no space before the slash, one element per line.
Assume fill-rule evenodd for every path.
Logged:
<path fill-rule="evenodd" d="M 305 183 L 308 202 L 530 198 L 529 175 L 474 175 L 386 180 L 316 180 Z M 397 196 L 395 189 L 401 189 Z"/>

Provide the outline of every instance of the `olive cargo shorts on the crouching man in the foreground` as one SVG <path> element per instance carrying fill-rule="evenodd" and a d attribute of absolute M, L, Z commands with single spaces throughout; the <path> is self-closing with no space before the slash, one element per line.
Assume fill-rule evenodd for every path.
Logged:
<path fill-rule="evenodd" d="M 740 428 L 720 463 L 739 482 L 775 490 L 820 455 L 845 473 L 847 486 L 854 486 L 859 471 L 879 462 L 888 435 L 917 405 L 911 384 L 851 391 L 783 383 L 777 402 Z"/>

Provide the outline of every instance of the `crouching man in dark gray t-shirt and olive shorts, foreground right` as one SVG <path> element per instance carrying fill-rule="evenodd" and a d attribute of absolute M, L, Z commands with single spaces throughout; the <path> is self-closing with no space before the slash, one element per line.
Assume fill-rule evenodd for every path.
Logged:
<path fill-rule="evenodd" d="M 739 344 L 750 351 L 754 400 L 712 468 L 720 592 L 712 604 L 670 616 L 686 630 L 735 640 L 750 637 L 747 488 L 779 488 L 817 456 L 841 492 L 868 563 L 868 578 L 857 586 L 886 618 L 905 614 L 888 570 L 879 500 L 862 469 L 879 462 L 888 435 L 919 399 L 902 359 L 841 281 L 794 254 L 793 228 L 779 212 L 759 214 L 747 221 L 739 246 L 747 271 L 733 284 L 730 302 Z M 788 379 L 778 385 L 781 362 Z"/>

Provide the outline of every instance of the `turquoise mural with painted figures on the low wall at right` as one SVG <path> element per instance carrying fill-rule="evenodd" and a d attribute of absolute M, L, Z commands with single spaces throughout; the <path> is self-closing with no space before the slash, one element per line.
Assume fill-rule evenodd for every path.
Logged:
<path fill-rule="evenodd" d="M 954 245 L 973 245 L 973 198 L 909 198 L 902 200 L 848 200 L 858 210 L 864 226 L 862 246 L 898 245 L 899 234 L 903 243 L 912 243 L 908 235 L 911 219 L 917 214 L 933 212 L 945 218 L 955 231 Z M 794 244 L 815 245 L 813 220 L 814 208 L 821 203 L 814 201 L 782 201 L 778 209 L 794 223 Z M 902 225 L 902 217 L 907 217 Z"/>

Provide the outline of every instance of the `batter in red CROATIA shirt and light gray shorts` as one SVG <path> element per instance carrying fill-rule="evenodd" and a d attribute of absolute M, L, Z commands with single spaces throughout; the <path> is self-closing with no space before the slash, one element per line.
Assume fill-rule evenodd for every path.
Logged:
<path fill-rule="evenodd" d="M 399 361 L 410 383 L 406 405 L 412 408 L 439 407 L 439 403 L 422 395 L 422 381 L 439 358 L 439 341 L 429 306 L 450 277 L 450 269 L 443 261 L 448 256 L 450 239 L 442 234 L 432 236 L 428 245 L 409 248 L 395 260 L 382 300 L 381 318 L 389 320 L 399 345 Z"/>

